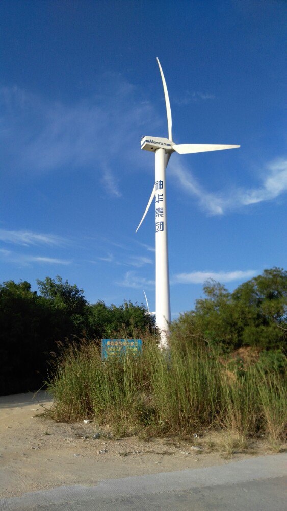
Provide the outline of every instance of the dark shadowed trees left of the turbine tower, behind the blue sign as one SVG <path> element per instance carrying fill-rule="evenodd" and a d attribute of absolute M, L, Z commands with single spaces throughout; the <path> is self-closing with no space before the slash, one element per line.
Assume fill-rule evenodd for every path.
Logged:
<path fill-rule="evenodd" d="M 40 294 L 31 291 L 28 282 L 0 285 L 0 394 L 39 388 L 59 341 L 100 339 L 119 330 L 129 336 L 135 329 L 153 330 L 154 320 L 143 306 L 90 305 L 82 289 L 60 276 L 37 283 Z"/>

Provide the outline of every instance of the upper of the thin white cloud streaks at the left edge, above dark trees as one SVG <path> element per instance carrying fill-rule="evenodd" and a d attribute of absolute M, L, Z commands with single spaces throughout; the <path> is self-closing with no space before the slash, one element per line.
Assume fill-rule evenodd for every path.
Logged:
<path fill-rule="evenodd" d="M 39 234 L 32 233 L 27 230 L 5 230 L 0 229 L 0 240 L 6 243 L 14 243 L 17 245 L 62 245 L 66 243 L 64 238 L 55 234 Z"/>

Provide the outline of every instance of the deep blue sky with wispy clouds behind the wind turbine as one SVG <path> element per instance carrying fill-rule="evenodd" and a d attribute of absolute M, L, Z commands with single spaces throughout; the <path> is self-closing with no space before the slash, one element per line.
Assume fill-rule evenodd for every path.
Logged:
<path fill-rule="evenodd" d="M 167 168 L 171 309 L 208 277 L 234 289 L 285 266 L 282 1 L 3 0 L 1 281 L 60 274 L 98 299 L 154 309 L 154 216 L 167 136 L 240 149 L 173 154 Z"/>

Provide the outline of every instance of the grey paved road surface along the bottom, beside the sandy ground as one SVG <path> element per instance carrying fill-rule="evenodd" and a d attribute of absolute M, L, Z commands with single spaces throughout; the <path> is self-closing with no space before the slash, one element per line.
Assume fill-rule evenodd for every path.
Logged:
<path fill-rule="evenodd" d="M 61 486 L 0 499 L 0 511 L 285 511 L 287 454 Z"/>

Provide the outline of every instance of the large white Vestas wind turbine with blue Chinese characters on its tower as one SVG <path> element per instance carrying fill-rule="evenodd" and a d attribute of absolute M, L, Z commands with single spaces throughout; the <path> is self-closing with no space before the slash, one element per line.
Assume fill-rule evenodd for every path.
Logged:
<path fill-rule="evenodd" d="M 168 330 L 170 323 L 170 295 L 168 269 L 168 238 L 167 238 L 167 206 L 166 206 L 166 167 L 170 155 L 175 151 L 179 154 L 201 153 L 233 149 L 240 146 L 219 144 L 175 144 L 171 132 L 171 110 L 165 77 L 159 59 L 159 64 L 166 102 L 168 138 L 143 136 L 141 149 L 155 153 L 155 183 L 144 215 L 136 230 L 142 224 L 150 204 L 155 197 L 155 317 L 156 326 L 161 332 L 161 347 L 168 346 Z"/>

